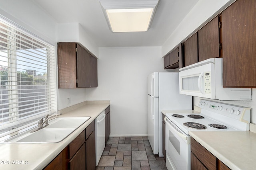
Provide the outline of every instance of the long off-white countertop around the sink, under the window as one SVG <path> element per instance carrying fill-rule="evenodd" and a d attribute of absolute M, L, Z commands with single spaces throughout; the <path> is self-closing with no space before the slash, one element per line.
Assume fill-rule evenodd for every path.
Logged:
<path fill-rule="evenodd" d="M 88 101 L 62 109 L 61 117 L 87 117 L 88 119 L 71 135 L 59 143 L 49 144 L 0 144 L 1 170 L 41 170 L 54 159 L 77 135 L 79 135 L 102 111 L 110 101 Z M 78 108 L 76 108 L 78 106 Z"/>

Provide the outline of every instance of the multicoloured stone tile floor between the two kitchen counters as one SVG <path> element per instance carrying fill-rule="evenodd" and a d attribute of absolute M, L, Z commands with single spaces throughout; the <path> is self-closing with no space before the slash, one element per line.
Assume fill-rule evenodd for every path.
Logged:
<path fill-rule="evenodd" d="M 147 137 L 110 137 L 96 170 L 167 170 Z"/>

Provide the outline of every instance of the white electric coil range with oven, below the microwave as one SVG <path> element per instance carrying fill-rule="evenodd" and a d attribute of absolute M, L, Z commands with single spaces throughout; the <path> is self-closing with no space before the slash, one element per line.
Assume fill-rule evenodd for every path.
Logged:
<path fill-rule="evenodd" d="M 194 110 L 166 113 L 166 166 L 168 170 L 190 170 L 189 131 L 248 131 L 250 108 L 200 100 Z"/>

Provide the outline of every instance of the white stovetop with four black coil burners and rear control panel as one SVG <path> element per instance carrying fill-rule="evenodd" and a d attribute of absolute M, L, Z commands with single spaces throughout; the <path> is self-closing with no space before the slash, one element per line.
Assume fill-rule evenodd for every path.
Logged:
<path fill-rule="evenodd" d="M 166 117 L 184 133 L 189 131 L 248 131 L 250 108 L 201 99 L 195 110 L 168 110 Z"/>

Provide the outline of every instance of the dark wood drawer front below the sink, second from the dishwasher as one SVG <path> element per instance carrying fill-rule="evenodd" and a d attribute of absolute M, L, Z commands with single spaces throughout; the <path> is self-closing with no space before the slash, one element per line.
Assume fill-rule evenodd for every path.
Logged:
<path fill-rule="evenodd" d="M 71 159 L 77 150 L 85 142 L 85 130 L 83 130 L 70 144 L 69 144 L 69 159 Z"/>

